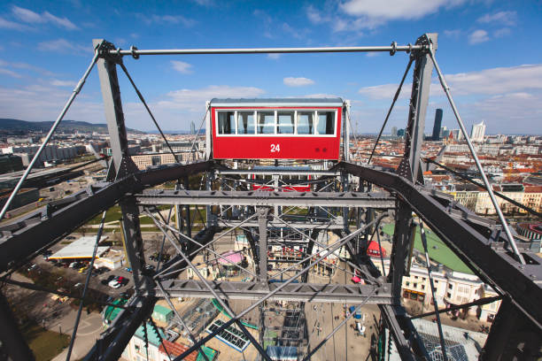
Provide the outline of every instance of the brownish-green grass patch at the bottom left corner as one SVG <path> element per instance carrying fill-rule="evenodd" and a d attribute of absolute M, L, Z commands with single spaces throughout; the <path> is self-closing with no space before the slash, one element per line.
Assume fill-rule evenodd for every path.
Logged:
<path fill-rule="evenodd" d="M 34 352 L 36 361 L 51 360 L 70 343 L 70 336 L 67 334 L 47 331 L 35 324 L 24 327 L 22 332 L 28 346 Z"/>

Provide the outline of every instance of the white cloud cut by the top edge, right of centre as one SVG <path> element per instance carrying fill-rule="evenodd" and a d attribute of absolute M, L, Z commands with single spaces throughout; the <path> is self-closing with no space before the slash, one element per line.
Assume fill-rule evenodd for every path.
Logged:
<path fill-rule="evenodd" d="M 440 8 L 451 8 L 464 2 L 464 0 L 349 0 L 339 6 L 348 15 L 385 21 L 421 19 Z"/>

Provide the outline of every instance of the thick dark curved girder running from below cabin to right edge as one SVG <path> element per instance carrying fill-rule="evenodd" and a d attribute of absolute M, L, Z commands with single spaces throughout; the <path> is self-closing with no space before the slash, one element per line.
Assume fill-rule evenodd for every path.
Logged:
<path fill-rule="evenodd" d="M 423 194 L 422 188 L 414 186 L 397 174 L 350 163 L 340 163 L 337 166 L 388 191 L 396 192 L 401 201 L 408 204 L 482 280 L 511 296 L 513 303 L 540 327 L 540 257 L 531 252 L 527 253 L 527 258 L 532 261 L 529 265 L 521 265 L 512 256 L 511 250 L 507 250 L 506 244 L 492 244 L 492 240 L 484 238 L 466 222 L 452 217 L 436 199 Z"/>

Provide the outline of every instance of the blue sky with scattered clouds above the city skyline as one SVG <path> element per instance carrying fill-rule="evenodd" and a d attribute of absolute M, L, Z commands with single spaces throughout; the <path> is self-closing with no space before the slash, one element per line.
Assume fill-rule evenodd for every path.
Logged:
<path fill-rule="evenodd" d="M 100 4 L 102 3 L 102 4 Z M 345 0 L 326 2 L 19 1 L 0 5 L 0 118 L 52 120 L 92 57 L 92 39 L 122 49 L 388 45 L 438 33 L 437 60 L 468 128 L 542 134 L 542 2 Z M 199 125 L 213 97 L 340 96 L 352 101 L 359 133 L 381 127 L 407 56 L 288 54 L 126 57 L 128 71 L 160 125 Z M 435 77 L 436 74 L 433 73 Z M 410 83 L 412 77 L 407 78 Z M 153 130 L 120 73 L 128 127 Z M 392 113 L 405 127 L 410 84 Z M 457 128 L 437 79 L 435 109 Z M 66 119 L 104 122 L 96 70 Z"/>

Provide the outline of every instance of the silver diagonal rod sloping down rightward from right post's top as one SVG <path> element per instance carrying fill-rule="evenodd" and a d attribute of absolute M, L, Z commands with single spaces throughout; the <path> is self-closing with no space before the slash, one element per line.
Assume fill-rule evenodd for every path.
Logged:
<path fill-rule="evenodd" d="M 493 188 L 490 184 L 489 180 L 487 179 L 487 176 L 484 172 L 484 167 L 480 163 L 480 159 L 478 159 L 478 156 L 476 155 L 476 150 L 474 149 L 474 146 L 472 145 L 472 142 L 470 142 L 470 138 L 467 134 L 467 129 L 465 128 L 465 125 L 463 124 L 463 120 L 461 120 L 461 116 L 459 114 L 459 111 L 457 110 L 457 107 L 455 106 L 455 103 L 453 102 L 452 94 L 450 93 L 450 87 L 448 87 L 448 84 L 445 81 L 444 74 L 440 71 L 440 67 L 438 66 L 437 59 L 435 58 L 435 54 L 433 54 L 433 49 L 430 47 L 430 58 L 433 61 L 433 64 L 435 65 L 435 70 L 438 74 L 438 80 L 440 81 L 440 85 L 442 85 L 442 88 L 445 91 L 446 97 L 448 98 L 448 102 L 450 103 L 450 106 L 452 107 L 453 114 L 455 115 L 455 119 L 457 119 L 457 122 L 459 126 L 461 127 L 461 133 L 465 137 L 465 140 L 467 141 L 468 150 L 470 150 L 470 154 L 474 158 L 476 168 L 478 168 L 478 171 L 480 172 L 480 175 L 482 176 L 482 180 L 484 180 L 485 188 L 487 189 L 487 193 L 489 193 L 490 198 L 492 199 L 493 207 L 495 207 L 495 211 L 497 212 L 497 215 L 499 216 L 500 223 L 502 224 L 502 227 L 505 230 L 505 233 L 508 237 L 508 242 L 510 242 L 510 246 L 512 247 L 512 250 L 514 250 L 515 256 L 521 262 L 522 265 L 525 265 L 525 260 L 523 259 L 522 254 L 517 249 L 517 246 L 515 245 L 514 236 L 510 232 L 510 227 L 508 227 L 507 219 L 504 218 L 504 215 L 502 214 L 502 211 L 500 210 L 499 203 L 497 202 L 497 198 L 495 198 L 495 195 L 493 194 Z"/>

